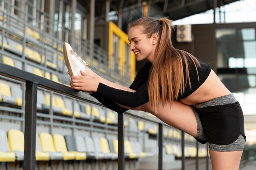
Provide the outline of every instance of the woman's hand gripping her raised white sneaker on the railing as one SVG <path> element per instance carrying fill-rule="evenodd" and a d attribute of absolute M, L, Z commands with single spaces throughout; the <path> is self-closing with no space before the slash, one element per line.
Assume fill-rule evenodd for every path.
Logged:
<path fill-rule="evenodd" d="M 99 82 L 94 79 L 94 72 L 85 73 L 81 71 L 82 76 L 71 76 L 70 86 L 76 90 L 93 93 L 97 91 Z"/>

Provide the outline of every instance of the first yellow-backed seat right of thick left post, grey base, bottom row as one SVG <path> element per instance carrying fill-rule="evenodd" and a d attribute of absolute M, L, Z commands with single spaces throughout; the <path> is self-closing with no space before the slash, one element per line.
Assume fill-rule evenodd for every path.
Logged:
<path fill-rule="evenodd" d="M 39 134 L 40 144 L 43 152 L 49 152 L 51 160 L 62 160 L 63 156 L 61 152 L 56 152 L 52 135 L 46 132 Z"/>

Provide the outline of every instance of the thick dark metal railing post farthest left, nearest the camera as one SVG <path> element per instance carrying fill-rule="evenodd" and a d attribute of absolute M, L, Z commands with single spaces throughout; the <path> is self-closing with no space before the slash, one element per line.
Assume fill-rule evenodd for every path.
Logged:
<path fill-rule="evenodd" d="M 37 84 L 26 82 L 25 95 L 25 149 L 23 170 L 36 169 L 36 102 Z M 23 102 L 25 102 L 23 101 Z"/>

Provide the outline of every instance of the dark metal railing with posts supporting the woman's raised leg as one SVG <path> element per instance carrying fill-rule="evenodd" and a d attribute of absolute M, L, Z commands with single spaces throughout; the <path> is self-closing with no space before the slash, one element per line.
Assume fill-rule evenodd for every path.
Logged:
<path fill-rule="evenodd" d="M 22 71 L 18 68 L 8 66 L 0 63 L 0 75 L 25 82 L 25 150 L 24 150 L 24 170 L 34 170 L 36 165 L 35 149 L 36 149 L 36 103 L 37 103 L 37 89 L 45 88 L 49 91 L 60 93 L 72 98 L 80 99 L 85 102 L 97 104 L 102 106 L 96 99 L 82 91 L 76 91 L 68 86 L 58 84 L 49 79 Z M 138 117 L 147 121 L 158 123 L 158 169 L 163 169 L 163 125 L 164 123 L 154 117 L 141 117 L 132 112 L 126 112 L 132 117 Z M 124 170 L 124 114 L 118 114 L 118 170 Z M 182 170 L 185 170 L 185 156 L 184 156 L 184 132 L 182 132 Z M 198 150 L 198 149 L 197 149 Z M 207 154 L 208 155 L 208 154 Z M 198 154 L 197 154 L 198 160 Z M 207 156 L 208 160 L 208 156 Z M 198 161 L 196 163 L 198 167 Z M 208 170 L 208 165 L 207 168 Z"/>

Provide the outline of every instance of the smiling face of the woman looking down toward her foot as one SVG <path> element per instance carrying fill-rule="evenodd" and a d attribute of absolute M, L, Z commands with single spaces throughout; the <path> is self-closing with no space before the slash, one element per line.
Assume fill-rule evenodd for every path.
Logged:
<path fill-rule="evenodd" d="M 134 26 L 130 28 L 128 32 L 130 51 L 133 51 L 137 61 L 147 59 L 148 61 L 153 62 L 157 35 L 153 34 L 148 38 L 146 34 L 142 32 L 142 29 L 142 26 Z"/>

